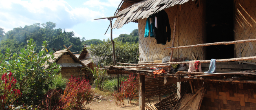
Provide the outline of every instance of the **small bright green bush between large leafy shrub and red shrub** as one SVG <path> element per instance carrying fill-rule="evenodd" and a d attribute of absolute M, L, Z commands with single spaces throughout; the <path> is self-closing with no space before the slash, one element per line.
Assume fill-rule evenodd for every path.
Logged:
<path fill-rule="evenodd" d="M 66 88 L 66 83 L 68 82 L 68 79 L 65 77 L 62 77 L 62 75 L 59 74 L 59 75 L 53 77 L 53 79 L 51 79 L 51 81 L 53 83 L 49 87 L 50 89 L 61 90 L 63 92 Z"/>

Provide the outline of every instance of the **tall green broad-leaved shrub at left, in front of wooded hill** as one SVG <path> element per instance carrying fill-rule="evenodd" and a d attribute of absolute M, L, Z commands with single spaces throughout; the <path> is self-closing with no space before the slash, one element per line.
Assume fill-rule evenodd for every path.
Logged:
<path fill-rule="evenodd" d="M 20 100 L 24 103 L 39 103 L 43 91 L 49 89 L 50 79 L 61 69 L 60 65 L 49 62 L 55 57 L 53 52 L 47 52 L 47 47 L 48 42 L 43 41 L 42 49 L 36 53 L 36 44 L 31 38 L 27 40 L 27 47 L 20 49 L 19 55 L 9 48 L 0 54 L 0 70 L 2 73 L 13 73 L 17 79 L 17 88 L 22 93 Z"/>

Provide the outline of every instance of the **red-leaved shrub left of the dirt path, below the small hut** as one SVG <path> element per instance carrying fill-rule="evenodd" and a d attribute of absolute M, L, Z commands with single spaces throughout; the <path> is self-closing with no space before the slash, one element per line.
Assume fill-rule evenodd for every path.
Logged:
<path fill-rule="evenodd" d="M 84 103 L 89 104 L 93 100 L 93 95 L 89 81 L 71 77 L 61 96 L 61 101 L 65 109 L 81 110 Z"/>

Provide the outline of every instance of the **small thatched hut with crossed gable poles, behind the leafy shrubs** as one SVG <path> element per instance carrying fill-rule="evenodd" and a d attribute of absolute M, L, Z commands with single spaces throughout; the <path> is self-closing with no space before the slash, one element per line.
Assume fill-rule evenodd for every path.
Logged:
<path fill-rule="evenodd" d="M 60 73 L 64 77 L 71 78 L 71 75 L 73 77 L 81 77 L 84 72 L 83 68 L 86 68 L 86 66 L 69 50 L 71 46 L 68 48 L 64 46 L 66 49 L 53 53 L 56 59 L 49 62 L 56 62 L 60 65 L 62 67 Z"/>

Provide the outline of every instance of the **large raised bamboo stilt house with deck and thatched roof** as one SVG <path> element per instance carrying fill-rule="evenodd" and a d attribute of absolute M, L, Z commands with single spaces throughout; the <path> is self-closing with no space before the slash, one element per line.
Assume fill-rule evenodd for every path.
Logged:
<path fill-rule="evenodd" d="M 117 13 L 107 18 L 116 18 L 112 29 L 138 22 L 139 64 L 104 68 L 108 74 L 139 75 L 140 110 L 145 109 L 145 97 L 172 92 L 176 88 L 168 85 L 172 83 L 178 83 L 177 97 L 146 104 L 147 110 L 256 110 L 256 0 L 122 0 L 120 5 Z M 168 14 L 171 28 L 171 41 L 165 45 L 144 36 L 147 18 L 160 11 Z M 171 56 L 171 62 L 154 63 L 166 56 Z M 209 69 L 210 59 L 216 59 L 216 73 L 168 71 L 154 75 L 151 70 L 132 69 L 189 63 L 172 58 L 198 60 L 202 71 Z M 147 92 L 152 88 L 172 89 Z"/>

